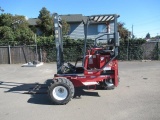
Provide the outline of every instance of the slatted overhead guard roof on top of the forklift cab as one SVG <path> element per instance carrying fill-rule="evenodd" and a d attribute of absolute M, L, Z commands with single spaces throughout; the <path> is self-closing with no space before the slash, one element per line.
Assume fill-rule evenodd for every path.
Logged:
<path fill-rule="evenodd" d="M 107 22 L 107 21 L 113 21 L 115 17 L 119 17 L 119 15 L 116 14 L 110 14 L 110 15 L 93 15 L 89 16 L 89 21 L 91 22 Z"/>

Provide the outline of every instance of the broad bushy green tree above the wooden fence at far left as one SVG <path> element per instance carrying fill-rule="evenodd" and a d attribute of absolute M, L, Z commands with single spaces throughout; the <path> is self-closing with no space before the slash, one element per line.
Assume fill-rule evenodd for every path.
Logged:
<path fill-rule="evenodd" d="M 34 33 L 24 16 L 0 15 L 0 45 L 34 44 Z"/>

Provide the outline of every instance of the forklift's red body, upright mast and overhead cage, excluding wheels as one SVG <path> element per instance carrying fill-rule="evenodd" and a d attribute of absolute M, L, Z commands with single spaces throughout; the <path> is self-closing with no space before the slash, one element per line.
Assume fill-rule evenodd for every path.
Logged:
<path fill-rule="evenodd" d="M 117 29 L 117 18 L 119 15 L 108 14 L 108 15 L 93 15 L 87 18 L 84 22 L 85 40 L 84 40 L 84 55 L 83 55 L 83 67 L 82 72 L 75 72 L 73 74 L 62 74 L 61 68 L 64 65 L 63 60 L 63 39 L 62 39 L 62 24 L 61 19 L 57 13 L 54 14 L 54 27 L 55 27 L 55 42 L 56 42 L 56 56 L 57 56 L 57 77 L 68 78 L 75 87 L 97 85 L 104 80 L 112 79 L 114 86 L 118 86 L 118 62 L 116 56 L 118 55 L 118 29 Z M 93 47 L 86 53 L 87 44 L 87 30 L 90 23 L 105 22 L 107 25 L 107 33 L 98 36 L 95 39 L 95 46 L 97 46 L 97 40 L 104 35 L 107 35 L 107 41 L 113 38 L 113 43 L 107 43 L 106 45 L 112 45 L 113 51 L 104 49 L 102 47 Z M 110 33 L 109 23 L 114 24 L 114 32 Z M 76 66 L 74 66 L 76 68 Z M 70 72 L 72 73 L 72 72 Z"/>

